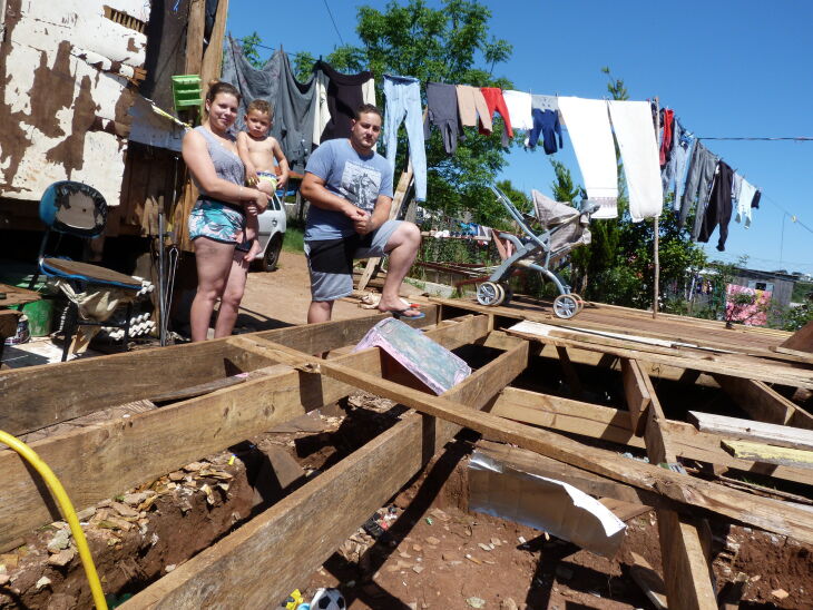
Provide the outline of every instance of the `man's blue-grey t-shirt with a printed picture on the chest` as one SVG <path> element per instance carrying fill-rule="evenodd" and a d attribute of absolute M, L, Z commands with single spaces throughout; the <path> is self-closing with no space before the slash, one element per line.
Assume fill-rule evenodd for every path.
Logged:
<path fill-rule="evenodd" d="M 392 197 L 392 170 L 386 159 L 378 152 L 362 157 L 346 138 L 322 142 L 311 154 L 305 171 L 322 178 L 331 193 L 370 214 L 379 195 Z M 344 214 L 311 205 L 305 226 L 306 240 L 339 239 L 350 235 L 355 235 L 355 229 Z"/>

